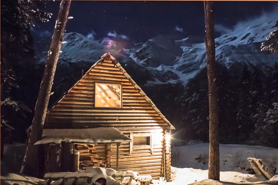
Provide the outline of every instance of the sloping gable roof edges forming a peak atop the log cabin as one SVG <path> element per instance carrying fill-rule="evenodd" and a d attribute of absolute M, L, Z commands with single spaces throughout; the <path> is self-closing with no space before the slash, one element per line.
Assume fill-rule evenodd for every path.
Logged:
<path fill-rule="evenodd" d="M 129 80 L 130 83 L 134 86 L 134 88 L 140 93 L 140 95 L 146 100 L 147 103 L 151 104 L 152 108 L 157 112 L 157 114 L 167 123 L 171 129 L 175 129 L 175 127 L 165 118 L 165 116 L 160 112 L 160 110 L 156 107 L 156 105 L 153 103 L 153 101 L 144 93 L 144 91 L 136 84 L 136 82 L 131 78 L 131 76 L 125 71 L 125 69 L 121 66 L 121 64 L 112 56 L 110 53 L 105 53 L 103 56 L 101 56 L 101 59 L 98 60 L 95 64 L 92 65 L 92 67 L 81 77 L 79 81 L 77 81 L 72 88 L 70 88 L 68 91 L 66 91 L 60 100 L 58 100 L 48 111 L 50 112 L 70 91 L 93 69 L 99 62 L 103 60 L 111 60 L 113 61 L 113 64 L 115 67 L 117 67 L 123 75 Z"/>

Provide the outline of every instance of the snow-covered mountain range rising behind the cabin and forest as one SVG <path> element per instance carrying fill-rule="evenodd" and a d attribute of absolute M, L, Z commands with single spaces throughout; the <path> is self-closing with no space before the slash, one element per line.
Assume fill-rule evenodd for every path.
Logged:
<path fill-rule="evenodd" d="M 278 61 L 278 55 L 261 52 L 260 44 L 277 26 L 277 20 L 260 18 L 236 25 L 230 33 L 215 39 L 216 61 L 228 68 L 233 64 L 256 66 L 267 73 Z M 193 35 L 179 40 L 171 35 L 159 35 L 143 44 L 133 44 L 108 37 L 94 41 L 79 33 L 66 33 L 64 41 L 58 67 L 70 67 L 74 63 L 87 69 L 110 52 L 125 66 L 147 71 L 149 78 L 143 85 L 177 82 L 185 85 L 206 66 L 205 44 Z M 44 39 L 34 47 L 38 63 L 46 61 L 49 42 L 50 39 Z"/>

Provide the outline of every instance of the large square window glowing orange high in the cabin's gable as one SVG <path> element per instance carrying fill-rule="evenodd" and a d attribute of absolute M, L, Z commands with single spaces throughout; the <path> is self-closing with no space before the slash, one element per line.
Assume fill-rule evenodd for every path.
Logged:
<path fill-rule="evenodd" d="M 121 85 L 95 84 L 95 107 L 121 108 Z"/>

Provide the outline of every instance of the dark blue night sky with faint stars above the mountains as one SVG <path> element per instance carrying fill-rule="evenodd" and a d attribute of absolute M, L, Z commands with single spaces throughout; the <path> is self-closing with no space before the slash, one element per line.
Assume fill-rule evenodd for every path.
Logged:
<path fill-rule="evenodd" d="M 50 22 L 32 28 L 35 41 L 52 35 L 60 1 L 46 3 Z M 216 25 L 230 29 L 237 22 L 275 11 L 278 2 L 214 2 Z M 95 39 L 110 35 L 145 42 L 153 36 L 179 32 L 204 35 L 203 2 L 186 1 L 73 1 L 66 33 L 89 33 Z M 219 33 L 216 33 L 216 36 Z"/>

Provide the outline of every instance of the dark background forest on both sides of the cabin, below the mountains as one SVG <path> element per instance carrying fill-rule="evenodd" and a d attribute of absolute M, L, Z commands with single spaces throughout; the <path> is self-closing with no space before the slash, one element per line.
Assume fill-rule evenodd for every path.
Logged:
<path fill-rule="evenodd" d="M 14 127 L 14 141 L 19 142 L 24 142 L 25 129 L 32 123 L 44 68 L 43 64 L 36 67 L 34 42 L 30 34 L 33 25 L 46 22 L 51 16 L 40 10 L 43 6 L 43 2 L 1 3 L 1 46 L 5 46 L 1 47 L 1 126 L 9 124 Z M 82 66 L 76 67 L 79 73 Z M 277 148 L 277 64 L 268 73 L 255 66 L 246 68 L 240 63 L 233 65 L 233 68 L 238 73 L 228 73 L 230 69 L 218 64 L 220 142 L 262 144 Z M 133 69 L 127 67 L 126 70 L 133 74 Z M 66 81 L 66 85 L 55 90 L 52 103 L 79 77 L 75 75 Z M 150 87 L 142 82 L 140 76 L 133 78 L 177 130 L 182 130 L 176 138 L 186 142 L 193 139 L 208 141 L 206 70 L 198 73 L 186 86 L 169 83 Z M 153 89 L 161 93 L 157 95 Z M 161 101 L 163 98 L 164 101 Z"/>

